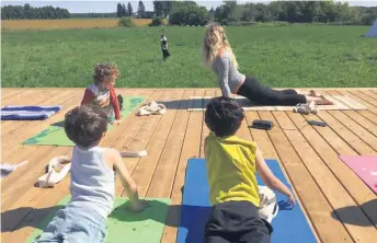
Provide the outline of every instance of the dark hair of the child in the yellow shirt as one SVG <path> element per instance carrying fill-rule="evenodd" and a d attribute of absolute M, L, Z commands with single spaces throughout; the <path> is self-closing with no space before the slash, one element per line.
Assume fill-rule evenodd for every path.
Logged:
<path fill-rule="evenodd" d="M 217 137 L 235 135 L 243 118 L 242 107 L 235 100 L 222 96 L 212 99 L 205 113 L 205 123 Z"/>

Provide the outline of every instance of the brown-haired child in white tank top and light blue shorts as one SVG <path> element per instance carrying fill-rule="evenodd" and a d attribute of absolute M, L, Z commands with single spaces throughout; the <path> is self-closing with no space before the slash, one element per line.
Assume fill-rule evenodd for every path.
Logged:
<path fill-rule="evenodd" d="M 107 130 L 107 117 L 100 107 L 83 105 L 66 114 L 65 130 L 76 143 L 71 159 L 71 200 L 56 212 L 34 243 L 105 242 L 105 221 L 113 209 L 114 171 L 119 174 L 130 204 L 128 210 L 147 207 L 138 197 L 135 182 L 115 149 L 101 148 Z"/>

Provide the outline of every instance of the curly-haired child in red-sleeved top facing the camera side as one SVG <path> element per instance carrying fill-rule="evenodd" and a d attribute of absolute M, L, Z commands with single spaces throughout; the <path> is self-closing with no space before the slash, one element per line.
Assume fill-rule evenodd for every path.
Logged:
<path fill-rule="evenodd" d="M 121 123 L 123 99 L 116 96 L 114 85 L 119 77 L 119 70 L 114 63 L 99 63 L 94 68 L 94 83 L 84 92 L 81 105 L 93 104 L 100 106 L 112 125 Z"/>

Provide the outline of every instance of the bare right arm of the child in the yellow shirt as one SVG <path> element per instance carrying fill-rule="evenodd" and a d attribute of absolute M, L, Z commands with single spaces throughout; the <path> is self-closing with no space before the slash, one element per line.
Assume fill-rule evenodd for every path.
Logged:
<path fill-rule="evenodd" d="M 288 197 L 289 202 L 294 206 L 295 205 L 295 197 L 286 187 L 270 170 L 266 165 L 263 154 L 259 148 L 256 148 L 255 152 L 255 161 L 256 161 L 256 170 L 261 175 L 264 184 L 266 184 L 270 188 L 277 190 Z"/>

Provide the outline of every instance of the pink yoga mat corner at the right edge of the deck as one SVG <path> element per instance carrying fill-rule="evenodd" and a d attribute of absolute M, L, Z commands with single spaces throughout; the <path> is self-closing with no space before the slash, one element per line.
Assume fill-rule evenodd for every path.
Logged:
<path fill-rule="evenodd" d="M 377 194 L 377 157 L 339 157 Z"/>

